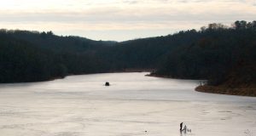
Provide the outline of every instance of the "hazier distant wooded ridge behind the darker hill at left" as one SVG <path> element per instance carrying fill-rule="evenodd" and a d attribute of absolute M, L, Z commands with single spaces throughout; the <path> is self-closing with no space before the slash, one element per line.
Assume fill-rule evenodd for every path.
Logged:
<path fill-rule="evenodd" d="M 9 37 L 31 42 L 40 48 L 48 48 L 55 52 L 79 52 L 94 51 L 102 46 L 115 45 L 117 42 L 110 41 L 94 41 L 84 37 L 59 37 L 53 34 L 52 31 L 7 31 L 1 30 Z"/>

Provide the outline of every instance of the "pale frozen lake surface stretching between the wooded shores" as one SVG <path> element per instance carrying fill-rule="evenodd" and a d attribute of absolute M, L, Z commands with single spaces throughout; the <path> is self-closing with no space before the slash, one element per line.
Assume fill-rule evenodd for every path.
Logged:
<path fill-rule="evenodd" d="M 198 81 L 145 74 L 1 84 L 0 135 L 256 135 L 256 98 L 199 93 L 194 91 Z M 103 86 L 107 81 L 110 87 Z M 180 122 L 192 133 L 180 133 Z"/>

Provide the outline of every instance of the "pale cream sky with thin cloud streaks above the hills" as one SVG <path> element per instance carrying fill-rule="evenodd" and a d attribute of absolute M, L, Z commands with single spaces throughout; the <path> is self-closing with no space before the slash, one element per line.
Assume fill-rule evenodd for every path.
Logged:
<path fill-rule="evenodd" d="M 156 37 L 256 20 L 256 0 L 0 0 L 0 28 L 94 40 Z"/>

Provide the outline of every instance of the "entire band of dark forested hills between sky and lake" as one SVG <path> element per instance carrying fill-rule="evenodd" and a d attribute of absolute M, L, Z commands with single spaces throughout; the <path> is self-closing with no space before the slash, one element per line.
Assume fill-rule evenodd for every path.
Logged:
<path fill-rule="evenodd" d="M 125 42 L 0 30 L 0 82 L 39 82 L 67 75 L 125 70 L 206 79 L 207 85 L 256 87 L 256 21 Z"/>

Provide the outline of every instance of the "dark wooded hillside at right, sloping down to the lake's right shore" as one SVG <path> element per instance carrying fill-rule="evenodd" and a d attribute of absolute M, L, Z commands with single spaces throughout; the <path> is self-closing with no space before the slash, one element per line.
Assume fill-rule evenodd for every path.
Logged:
<path fill-rule="evenodd" d="M 256 21 L 236 21 L 231 27 L 214 23 L 194 35 L 199 38 L 172 50 L 156 75 L 207 79 L 209 85 L 229 88 L 255 87 Z"/>

